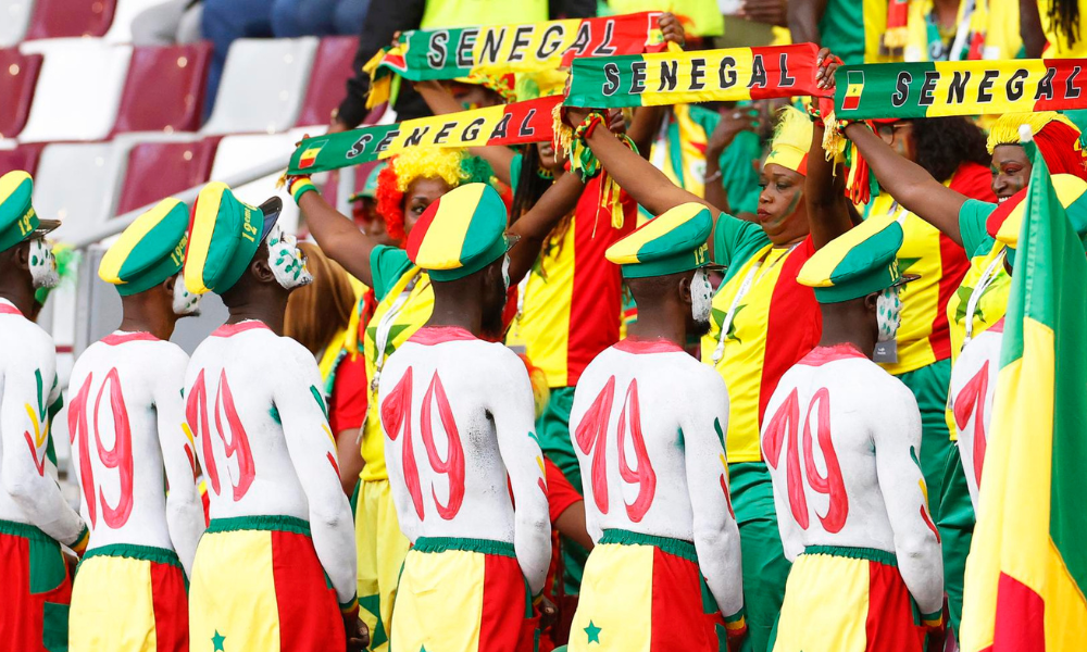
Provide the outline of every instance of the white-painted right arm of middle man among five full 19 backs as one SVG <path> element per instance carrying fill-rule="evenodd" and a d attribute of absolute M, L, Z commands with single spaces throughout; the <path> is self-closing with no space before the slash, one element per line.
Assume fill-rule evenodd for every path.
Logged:
<path fill-rule="evenodd" d="M 500 347 L 500 344 L 493 344 Z M 513 487 L 513 547 L 533 594 L 544 590 L 551 563 L 551 519 L 547 505 L 544 453 L 536 438 L 533 387 L 513 352 L 502 348 L 503 363 L 491 378 L 488 412 L 495 419 L 498 448 Z"/>

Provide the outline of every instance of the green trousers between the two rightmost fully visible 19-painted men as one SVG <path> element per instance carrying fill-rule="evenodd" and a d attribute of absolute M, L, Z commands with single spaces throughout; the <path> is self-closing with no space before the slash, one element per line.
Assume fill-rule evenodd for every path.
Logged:
<path fill-rule="evenodd" d="M 740 526 L 740 553 L 744 557 L 744 607 L 748 636 L 744 652 L 766 652 L 771 631 L 785 602 L 785 582 L 791 564 L 785 559 L 782 534 L 777 529 L 774 487 L 770 471 L 762 462 L 728 465 L 736 522 Z"/>

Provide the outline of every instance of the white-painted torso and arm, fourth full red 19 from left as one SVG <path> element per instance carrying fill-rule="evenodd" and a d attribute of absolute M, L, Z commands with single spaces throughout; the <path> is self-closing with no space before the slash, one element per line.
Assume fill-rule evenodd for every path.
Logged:
<path fill-rule="evenodd" d="M 744 606 L 728 494 L 721 376 L 678 347 L 624 340 L 577 381 L 570 434 L 585 479 L 585 524 L 691 541 L 722 615 Z"/>

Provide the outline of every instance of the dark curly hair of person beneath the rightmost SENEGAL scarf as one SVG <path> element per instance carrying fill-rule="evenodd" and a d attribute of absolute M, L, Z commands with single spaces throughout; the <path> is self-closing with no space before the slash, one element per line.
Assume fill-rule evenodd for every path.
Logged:
<path fill-rule="evenodd" d="M 985 134 L 969 118 L 926 117 L 910 122 L 913 123 L 917 165 L 936 180 L 948 180 L 966 162 L 989 166 Z"/>

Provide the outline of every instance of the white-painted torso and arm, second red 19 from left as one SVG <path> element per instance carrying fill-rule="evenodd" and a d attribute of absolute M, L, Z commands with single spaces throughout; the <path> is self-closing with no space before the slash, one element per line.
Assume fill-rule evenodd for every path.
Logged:
<path fill-rule="evenodd" d="M 354 524 L 340 486 L 321 373 L 301 344 L 257 321 L 221 326 L 185 374 L 185 415 L 211 518 L 295 516 L 340 604 L 355 594 Z"/>

